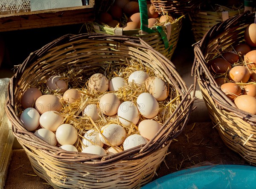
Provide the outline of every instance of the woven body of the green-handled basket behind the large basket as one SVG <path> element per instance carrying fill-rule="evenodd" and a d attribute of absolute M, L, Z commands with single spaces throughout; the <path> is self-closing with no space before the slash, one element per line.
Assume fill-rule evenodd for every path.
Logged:
<path fill-rule="evenodd" d="M 97 3 L 98 1 L 96 1 Z M 108 1 L 108 5 L 112 5 L 111 1 Z M 108 9 L 104 5 L 104 3 L 101 3 L 99 6 L 99 12 L 96 14 L 99 14 L 100 12 L 106 12 Z M 147 33 L 142 32 L 141 29 L 133 29 L 133 30 L 126 30 L 123 31 L 122 28 L 113 28 L 111 26 L 108 26 L 107 24 L 101 23 L 99 21 L 95 22 L 88 22 L 86 23 L 87 32 L 93 32 L 93 33 L 102 33 L 102 34 L 109 34 L 109 35 L 126 35 L 126 36 L 136 36 L 139 38 L 142 38 L 146 43 L 151 45 L 155 50 L 166 56 L 168 59 L 172 58 L 172 55 L 177 47 L 177 43 L 179 40 L 179 34 L 180 29 L 182 27 L 182 20 L 183 16 L 177 17 L 175 21 L 172 23 L 166 23 L 165 26 L 161 26 L 163 29 L 163 32 L 166 34 L 168 47 L 166 47 L 163 37 L 161 36 L 160 32 L 157 30 L 157 27 L 151 27 L 155 32 Z"/>

